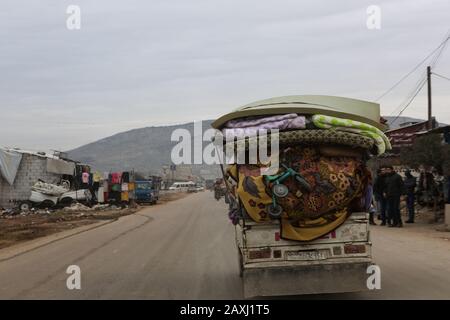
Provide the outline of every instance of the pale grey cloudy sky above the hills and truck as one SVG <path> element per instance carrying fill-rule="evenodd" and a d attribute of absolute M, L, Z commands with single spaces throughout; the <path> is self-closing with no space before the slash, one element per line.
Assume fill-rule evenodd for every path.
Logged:
<path fill-rule="evenodd" d="M 80 30 L 66 26 L 72 4 Z M 379 30 L 367 28 L 370 5 L 381 9 Z M 0 8 L 0 145 L 30 149 L 211 119 L 273 96 L 375 100 L 450 29 L 448 0 L 3 0 Z M 380 100 L 383 115 L 398 114 L 424 70 Z M 450 48 L 434 71 L 450 77 Z M 426 117 L 425 89 L 404 115 Z M 450 81 L 433 78 L 433 102 L 450 123 Z"/>

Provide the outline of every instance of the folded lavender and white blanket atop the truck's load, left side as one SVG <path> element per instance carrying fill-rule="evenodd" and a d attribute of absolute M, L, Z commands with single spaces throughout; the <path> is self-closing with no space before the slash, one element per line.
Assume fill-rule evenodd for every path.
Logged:
<path fill-rule="evenodd" d="M 230 120 L 225 124 L 222 130 L 225 137 L 231 136 L 238 139 L 245 137 L 254 137 L 260 130 L 289 130 L 305 129 L 306 118 L 296 113 L 275 115 L 263 118 L 245 118 L 242 120 Z"/>

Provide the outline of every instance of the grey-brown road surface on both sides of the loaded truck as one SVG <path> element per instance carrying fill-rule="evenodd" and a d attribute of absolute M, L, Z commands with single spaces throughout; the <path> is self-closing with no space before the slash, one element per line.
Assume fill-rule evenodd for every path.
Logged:
<path fill-rule="evenodd" d="M 372 228 L 381 290 L 286 298 L 450 299 L 448 233 L 428 229 Z M 81 290 L 67 289 L 70 265 Z M 208 191 L 148 207 L 1 261 L 0 298 L 242 299 L 234 228 Z"/>

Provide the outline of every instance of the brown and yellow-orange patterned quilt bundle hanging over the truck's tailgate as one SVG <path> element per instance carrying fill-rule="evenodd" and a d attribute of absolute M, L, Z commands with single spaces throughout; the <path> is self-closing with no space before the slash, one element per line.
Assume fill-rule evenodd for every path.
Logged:
<path fill-rule="evenodd" d="M 290 177 L 283 181 L 289 189 L 276 201 L 283 208 L 281 236 L 310 241 L 341 225 L 365 195 L 368 172 L 362 160 L 354 157 L 327 157 L 317 147 L 295 146 L 284 149 L 281 163 L 300 173 L 312 190 L 305 192 Z M 284 169 L 280 169 L 282 172 Z M 233 165 L 229 173 L 237 175 L 236 193 L 248 215 L 256 222 L 270 219 L 267 205 L 272 204 L 272 185 L 260 175 L 257 165 Z"/>

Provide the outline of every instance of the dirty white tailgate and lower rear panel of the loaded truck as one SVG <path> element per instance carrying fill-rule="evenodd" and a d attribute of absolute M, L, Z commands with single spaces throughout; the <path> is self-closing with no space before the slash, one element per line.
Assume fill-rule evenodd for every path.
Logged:
<path fill-rule="evenodd" d="M 353 213 L 328 235 L 309 242 L 280 238 L 279 221 L 236 225 L 244 296 L 366 290 L 372 264 L 368 214 Z"/>

